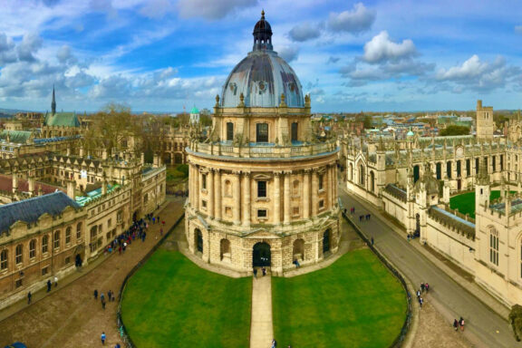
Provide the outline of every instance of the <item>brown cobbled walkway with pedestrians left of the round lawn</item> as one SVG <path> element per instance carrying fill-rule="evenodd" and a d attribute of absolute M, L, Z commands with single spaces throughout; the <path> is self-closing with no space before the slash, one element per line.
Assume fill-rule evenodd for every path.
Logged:
<path fill-rule="evenodd" d="M 181 198 L 168 198 L 155 214 L 165 220 L 168 230 L 183 215 Z M 106 346 L 121 342 L 116 325 L 118 302 L 107 303 L 92 296 L 94 289 L 118 294 L 125 276 L 160 240 L 160 225 L 150 225 L 145 242 L 134 241 L 125 254 L 102 256 L 100 265 L 83 269 L 80 275 L 65 277 L 50 294 L 38 292 L 34 304 L 15 304 L 0 312 L 0 347 L 21 341 L 28 347 L 97 347 L 100 335 L 107 334 Z M 94 267 L 95 266 L 95 267 Z M 15 313 L 14 313 L 15 312 Z"/>

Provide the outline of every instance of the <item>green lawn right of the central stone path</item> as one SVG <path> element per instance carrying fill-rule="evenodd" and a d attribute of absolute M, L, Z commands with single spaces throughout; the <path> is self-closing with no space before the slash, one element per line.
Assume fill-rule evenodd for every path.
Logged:
<path fill-rule="evenodd" d="M 401 284 L 369 249 L 294 278 L 272 278 L 277 345 L 388 347 L 406 318 Z"/>

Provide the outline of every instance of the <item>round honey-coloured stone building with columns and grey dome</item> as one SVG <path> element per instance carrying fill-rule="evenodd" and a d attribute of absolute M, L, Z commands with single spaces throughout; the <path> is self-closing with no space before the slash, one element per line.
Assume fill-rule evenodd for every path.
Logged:
<path fill-rule="evenodd" d="M 264 13 L 253 34 L 216 97 L 211 131 L 187 149 L 186 235 L 208 263 L 280 275 L 338 249 L 339 149 L 314 134 L 310 96 L 273 51 Z"/>

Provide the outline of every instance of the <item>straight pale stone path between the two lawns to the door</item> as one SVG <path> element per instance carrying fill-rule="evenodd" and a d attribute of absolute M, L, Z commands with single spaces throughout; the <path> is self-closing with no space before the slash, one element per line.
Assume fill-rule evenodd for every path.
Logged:
<path fill-rule="evenodd" d="M 259 272 L 260 273 L 260 272 Z M 270 273 L 252 279 L 250 348 L 269 348 L 274 339 L 272 323 L 272 280 Z"/>

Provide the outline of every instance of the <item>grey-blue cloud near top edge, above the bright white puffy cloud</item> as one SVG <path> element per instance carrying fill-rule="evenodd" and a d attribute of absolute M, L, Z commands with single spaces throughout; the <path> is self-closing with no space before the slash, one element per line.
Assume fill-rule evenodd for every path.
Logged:
<path fill-rule="evenodd" d="M 362 3 L 353 5 L 352 11 L 331 13 L 328 18 L 328 28 L 333 32 L 348 32 L 360 34 L 372 27 L 375 21 L 375 11 L 369 10 Z"/>

